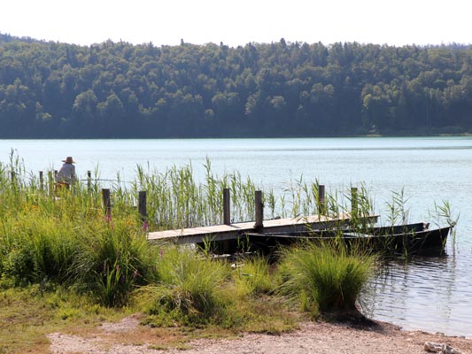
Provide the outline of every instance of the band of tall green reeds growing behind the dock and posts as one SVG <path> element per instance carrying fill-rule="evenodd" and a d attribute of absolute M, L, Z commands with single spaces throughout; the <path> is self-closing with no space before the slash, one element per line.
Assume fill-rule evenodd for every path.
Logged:
<path fill-rule="evenodd" d="M 11 158 L 8 165 L 0 164 L 0 192 L 4 203 L 2 212 L 16 213 L 25 205 L 35 205 L 41 212 L 69 218 L 96 216 L 103 212 L 100 181 L 78 182 L 71 192 L 58 196 L 54 192 L 52 173 L 47 172 L 41 183 L 34 173 L 27 173 L 18 158 Z M 14 176 L 14 178 L 12 178 Z M 254 219 L 254 192 L 263 190 L 265 219 L 276 217 L 299 217 L 321 212 L 336 217 L 340 212 L 350 212 L 349 193 L 327 194 L 326 202 L 320 204 L 318 181 L 290 181 L 289 187 L 280 190 L 264 190 L 248 176 L 240 173 L 213 173 L 211 161 L 205 163 L 205 179 L 195 181 L 192 165 L 171 167 L 165 171 L 145 170 L 136 166 L 136 175 L 128 184 L 120 181 L 120 175 L 111 186 L 113 218 L 136 216 L 138 192 L 147 192 L 148 223 L 151 230 L 199 227 L 222 223 L 222 191 L 230 190 L 231 216 L 233 222 Z M 367 190 L 359 192 L 359 215 L 372 212 Z M 60 197 L 60 202 L 58 202 Z M 362 198 L 366 198 L 363 200 Z"/>

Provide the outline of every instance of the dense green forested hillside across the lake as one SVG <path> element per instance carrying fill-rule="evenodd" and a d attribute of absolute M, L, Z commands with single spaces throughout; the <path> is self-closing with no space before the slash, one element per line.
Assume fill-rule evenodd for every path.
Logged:
<path fill-rule="evenodd" d="M 0 34 L 0 138 L 472 132 L 472 46 L 78 46 Z"/>

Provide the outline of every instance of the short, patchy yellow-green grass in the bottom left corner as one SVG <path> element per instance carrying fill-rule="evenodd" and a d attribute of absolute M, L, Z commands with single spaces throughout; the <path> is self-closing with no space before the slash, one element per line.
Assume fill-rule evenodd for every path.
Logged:
<path fill-rule="evenodd" d="M 0 290 L 0 353 L 48 353 L 46 335 L 75 328 L 92 330 L 104 319 L 120 316 L 68 289 L 39 288 Z"/>

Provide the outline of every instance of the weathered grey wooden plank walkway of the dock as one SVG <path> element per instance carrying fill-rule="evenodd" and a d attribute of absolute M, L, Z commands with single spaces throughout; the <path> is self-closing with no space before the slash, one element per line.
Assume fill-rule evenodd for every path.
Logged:
<path fill-rule="evenodd" d="M 365 219 L 376 221 L 376 215 Z M 174 242 L 177 244 L 200 243 L 204 241 L 226 241 L 245 237 L 246 234 L 254 232 L 283 233 L 293 231 L 309 231 L 330 227 L 342 227 L 347 225 L 351 219 L 350 213 L 343 213 L 337 218 L 324 215 L 311 215 L 299 218 L 268 219 L 263 220 L 262 227 L 256 227 L 254 221 L 239 222 L 228 225 L 215 225 L 209 227 L 182 228 L 178 230 L 166 230 L 151 232 L 148 240 L 151 242 Z"/>

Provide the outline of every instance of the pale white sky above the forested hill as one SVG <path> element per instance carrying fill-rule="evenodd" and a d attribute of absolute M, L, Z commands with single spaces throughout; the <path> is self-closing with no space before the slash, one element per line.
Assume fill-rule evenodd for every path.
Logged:
<path fill-rule="evenodd" d="M 0 33 L 89 45 L 472 43 L 472 0 L 0 0 Z"/>

